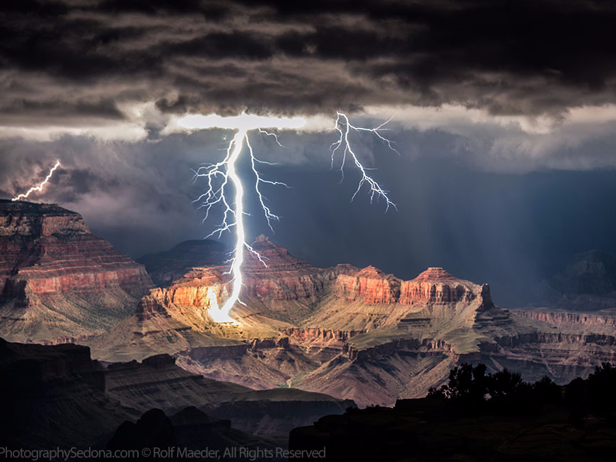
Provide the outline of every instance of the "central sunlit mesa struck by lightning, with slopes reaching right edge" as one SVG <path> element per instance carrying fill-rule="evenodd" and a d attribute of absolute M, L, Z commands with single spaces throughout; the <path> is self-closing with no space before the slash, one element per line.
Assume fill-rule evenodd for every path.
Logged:
<path fill-rule="evenodd" d="M 220 303 L 228 296 L 226 267 L 193 267 L 169 287 L 151 291 L 140 305 L 149 308 L 131 321 L 136 331 L 165 320 L 173 324 L 167 333 L 192 339 L 153 341 L 156 329 L 145 329 L 127 349 L 105 341 L 112 329 L 98 345 L 91 343 L 94 353 L 139 359 L 151 341 L 144 351 L 160 345 L 195 374 L 256 389 L 291 386 L 359 405 L 425 395 L 460 362 L 484 362 L 491 370 L 506 365 L 528 380 L 547 374 L 562 382 L 616 359 L 614 335 L 580 337 L 518 316 L 494 305 L 487 284 L 443 268 L 405 281 L 375 267 L 315 268 L 265 236 L 253 247 L 267 267 L 246 254 L 245 305 L 232 311 L 239 326 L 212 323 L 207 315 L 209 289 Z"/>

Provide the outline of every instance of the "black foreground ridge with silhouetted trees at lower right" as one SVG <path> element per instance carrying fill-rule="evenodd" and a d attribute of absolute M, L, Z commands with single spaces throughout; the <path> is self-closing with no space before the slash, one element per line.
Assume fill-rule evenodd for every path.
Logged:
<path fill-rule="evenodd" d="M 605 461 L 616 450 L 616 369 L 561 387 L 463 364 L 428 397 L 348 410 L 291 431 L 289 449 L 331 461 Z M 302 458 L 299 460 L 317 460 Z M 320 459 L 322 460 L 322 459 Z"/>

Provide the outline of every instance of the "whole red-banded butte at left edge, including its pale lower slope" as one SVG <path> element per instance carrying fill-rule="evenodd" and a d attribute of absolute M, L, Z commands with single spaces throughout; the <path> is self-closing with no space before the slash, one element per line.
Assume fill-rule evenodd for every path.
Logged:
<path fill-rule="evenodd" d="M 58 342 L 111 328 L 153 284 L 76 212 L 0 200 L 0 287 L 0 335 Z"/>

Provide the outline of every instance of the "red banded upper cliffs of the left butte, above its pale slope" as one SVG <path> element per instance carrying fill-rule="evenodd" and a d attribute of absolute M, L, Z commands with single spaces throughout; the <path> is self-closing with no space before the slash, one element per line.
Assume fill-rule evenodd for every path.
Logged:
<path fill-rule="evenodd" d="M 53 204 L 1 201 L 0 250 L 0 283 L 10 281 L 12 295 L 21 287 L 24 296 L 43 298 L 117 288 L 140 296 L 152 286 L 143 266 L 93 236 L 79 214 Z"/>

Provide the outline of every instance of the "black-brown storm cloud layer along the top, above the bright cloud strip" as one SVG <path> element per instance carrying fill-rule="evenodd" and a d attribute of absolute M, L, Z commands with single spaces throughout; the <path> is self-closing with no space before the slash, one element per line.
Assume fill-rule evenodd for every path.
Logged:
<path fill-rule="evenodd" d="M 556 116 L 614 102 L 615 23 L 616 7 L 594 1 L 4 1 L 0 103 L 41 120 L 91 117 L 104 88 L 102 117 L 144 101 Z"/>

